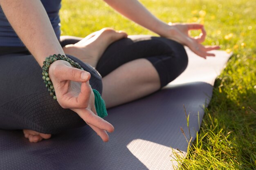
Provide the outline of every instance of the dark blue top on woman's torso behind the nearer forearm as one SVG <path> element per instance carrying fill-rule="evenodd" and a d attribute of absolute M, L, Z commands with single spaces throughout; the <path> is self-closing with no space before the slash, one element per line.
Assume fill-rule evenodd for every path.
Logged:
<path fill-rule="evenodd" d="M 61 9 L 61 0 L 41 0 L 45 10 L 49 16 L 52 23 L 52 27 L 55 31 L 57 38 L 60 38 L 60 18 L 58 15 Z M 10 23 L 5 17 L 2 8 L 0 6 L 0 46 L 25 46 L 15 31 L 12 29 Z"/>

